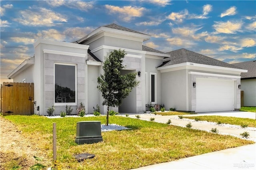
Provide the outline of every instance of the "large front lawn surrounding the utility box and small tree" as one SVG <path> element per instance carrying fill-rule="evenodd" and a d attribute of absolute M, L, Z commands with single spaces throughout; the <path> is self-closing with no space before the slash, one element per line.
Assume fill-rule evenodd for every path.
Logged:
<path fill-rule="evenodd" d="M 101 121 L 104 124 L 106 117 L 48 119 L 36 115 L 16 115 L 4 118 L 17 125 L 25 138 L 28 138 L 38 149 L 46 152 L 48 154 L 46 159 L 50 161 L 52 160 L 52 123 L 56 123 L 58 160 L 56 168 L 60 169 L 128 170 L 253 143 L 234 136 L 111 116 L 110 123 L 132 130 L 102 132 L 103 142 L 77 145 L 75 136 L 78 121 Z M 73 155 L 79 153 L 96 156 L 84 162 L 77 162 Z"/>

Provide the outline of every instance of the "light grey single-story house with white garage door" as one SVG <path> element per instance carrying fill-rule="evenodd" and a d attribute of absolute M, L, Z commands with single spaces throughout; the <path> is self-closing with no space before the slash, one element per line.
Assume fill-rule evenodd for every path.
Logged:
<path fill-rule="evenodd" d="M 101 26 L 72 43 L 39 39 L 34 57 L 25 60 L 8 78 L 14 82 L 34 83 L 35 106 L 47 115 L 84 103 L 88 113 L 103 98 L 97 77 L 103 73 L 104 57 L 114 49 L 125 49 L 126 69 L 121 74 L 140 72 L 140 85 L 132 90 L 120 113 L 140 113 L 146 104 L 164 104 L 180 111 L 233 111 L 240 109 L 240 74 L 247 70 L 216 59 L 179 49 L 164 53 L 142 45 L 150 36 L 116 24 Z"/>

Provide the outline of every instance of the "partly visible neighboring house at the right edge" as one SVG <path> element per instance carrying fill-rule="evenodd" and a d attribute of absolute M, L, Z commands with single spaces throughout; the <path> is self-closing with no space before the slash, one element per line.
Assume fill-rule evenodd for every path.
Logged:
<path fill-rule="evenodd" d="M 247 73 L 241 73 L 241 91 L 244 91 L 244 106 L 256 107 L 256 60 L 232 65 L 248 70 Z"/>

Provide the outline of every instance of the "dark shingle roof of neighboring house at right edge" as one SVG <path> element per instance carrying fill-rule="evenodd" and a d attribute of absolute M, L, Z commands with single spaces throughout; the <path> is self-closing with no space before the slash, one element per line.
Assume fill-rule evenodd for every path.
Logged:
<path fill-rule="evenodd" d="M 248 70 L 247 73 L 241 73 L 241 79 L 256 79 L 256 60 L 234 63 L 232 65 Z"/>

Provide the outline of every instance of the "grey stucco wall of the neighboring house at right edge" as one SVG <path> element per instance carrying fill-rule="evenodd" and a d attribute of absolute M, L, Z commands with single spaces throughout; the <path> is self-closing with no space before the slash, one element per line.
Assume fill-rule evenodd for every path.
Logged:
<path fill-rule="evenodd" d="M 241 80 L 241 90 L 244 91 L 244 106 L 256 107 L 256 79 Z"/>

